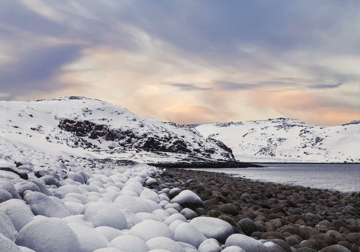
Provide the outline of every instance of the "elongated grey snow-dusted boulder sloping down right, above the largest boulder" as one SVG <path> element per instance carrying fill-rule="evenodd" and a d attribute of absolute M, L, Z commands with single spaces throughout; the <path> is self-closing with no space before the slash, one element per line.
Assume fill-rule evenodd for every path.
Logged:
<path fill-rule="evenodd" d="M 30 205 L 34 215 L 44 215 L 46 217 L 63 218 L 70 213 L 62 205 L 51 199 L 49 196 L 39 192 L 30 192 L 24 196 L 26 204 Z"/>

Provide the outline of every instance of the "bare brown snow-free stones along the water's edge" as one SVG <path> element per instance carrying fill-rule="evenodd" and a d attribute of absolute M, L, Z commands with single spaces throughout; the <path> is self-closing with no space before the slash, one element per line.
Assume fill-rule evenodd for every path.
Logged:
<path fill-rule="evenodd" d="M 177 188 L 197 194 L 204 204 L 204 209 L 197 209 L 199 216 L 220 218 L 247 236 L 279 245 L 283 240 L 298 251 L 303 251 L 302 247 L 320 251 L 332 245 L 359 249 L 346 237 L 360 232 L 360 193 L 179 168 L 166 169 L 161 179 L 179 181 Z M 319 244 L 322 247 L 317 247 Z"/>

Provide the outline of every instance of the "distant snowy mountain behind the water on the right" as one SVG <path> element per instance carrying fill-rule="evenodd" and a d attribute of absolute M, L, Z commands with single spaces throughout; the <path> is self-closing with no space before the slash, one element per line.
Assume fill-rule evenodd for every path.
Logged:
<path fill-rule="evenodd" d="M 277 118 L 239 123 L 194 124 L 246 162 L 360 162 L 360 121 L 333 127 Z"/>

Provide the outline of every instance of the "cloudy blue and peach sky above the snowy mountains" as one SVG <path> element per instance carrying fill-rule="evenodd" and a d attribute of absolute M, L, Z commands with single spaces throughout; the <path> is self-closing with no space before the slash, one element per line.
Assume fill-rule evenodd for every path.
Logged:
<path fill-rule="evenodd" d="M 360 1 L 1 0 L 0 100 L 179 124 L 360 120 Z"/>

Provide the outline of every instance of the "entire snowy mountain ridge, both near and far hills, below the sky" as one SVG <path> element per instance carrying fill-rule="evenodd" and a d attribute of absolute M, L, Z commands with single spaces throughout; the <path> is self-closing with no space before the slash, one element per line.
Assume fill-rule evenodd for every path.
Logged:
<path fill-rule="evenodd" d="M 80 96 L 2 101 L 0 145 L 143 162 L 359 162 L 360 121 L 176 124 Z"/>

